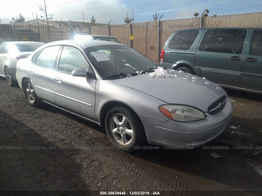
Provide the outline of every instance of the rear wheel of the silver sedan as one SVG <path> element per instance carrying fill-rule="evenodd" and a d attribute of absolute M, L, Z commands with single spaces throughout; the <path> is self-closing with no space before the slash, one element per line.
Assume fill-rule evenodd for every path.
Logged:
<path fill-rule="evenodd" d="M 30 80 L 24 81 L 24 95 L 28 104 L 33 107 L 36 107 L 41 103 L 41 100 L 37 97 Z"/>

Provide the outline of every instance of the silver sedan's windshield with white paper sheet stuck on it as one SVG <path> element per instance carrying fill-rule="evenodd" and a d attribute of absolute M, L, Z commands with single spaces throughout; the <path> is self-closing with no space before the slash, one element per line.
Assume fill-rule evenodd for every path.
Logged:
<path fill-rule="evenodd" d="M 85 52 L 103 78 L 121 73 L 137 74 L 158 66 L 127 46 L 95 46 L 86 48 Z"/>

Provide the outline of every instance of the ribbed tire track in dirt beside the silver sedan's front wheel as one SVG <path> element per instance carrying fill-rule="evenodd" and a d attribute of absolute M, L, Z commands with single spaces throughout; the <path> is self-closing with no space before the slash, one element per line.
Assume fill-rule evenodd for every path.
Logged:
<path fill-rule="evenodd" d="M 193 193 L 193 190 L 197 190 L 196 187 L 182 182 L 178 177 L 170 176 L 166 172 L 162 172 L 157 168 L 148 168 L 141 165 L 132 159 L 130 154 L 117 148 L 112 148 L 111 144 L 102 141 L 100 138 L 94 137 L 86 131 L 73 132 L 73 135 L 76 138 L 83 140 L 88 145 L 103 146 L 103 148 L 97 147 L 95 149 L 140 177 L 141 181 L 148 181 L 150 184 L 155 185 L 156 190 L 172 190 L 174 191 L 173 195 L 188 195 L 184 190 L 190 191 L 191 193 Z M 194 195 L 199 194 L 198 192 L 194 192 Z"/>

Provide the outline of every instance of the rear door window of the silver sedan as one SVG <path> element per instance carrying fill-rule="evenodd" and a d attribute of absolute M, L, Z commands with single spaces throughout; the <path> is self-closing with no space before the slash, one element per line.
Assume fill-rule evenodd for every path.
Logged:
<path fill-rule="evenodd" d="M 60 46 L 50 46 L 42 50 L 36 59 L 36 64 L 45 68 L 53 69 Z"/>

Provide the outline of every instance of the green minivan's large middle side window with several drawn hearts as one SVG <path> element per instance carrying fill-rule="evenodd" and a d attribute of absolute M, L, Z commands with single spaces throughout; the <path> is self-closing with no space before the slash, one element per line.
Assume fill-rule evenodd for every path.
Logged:
<path fill-rule="evenodd" d="M 242 54 L 247 31 L 245 29 L 212 29 L 206 31 L 200 51 Z"/>

